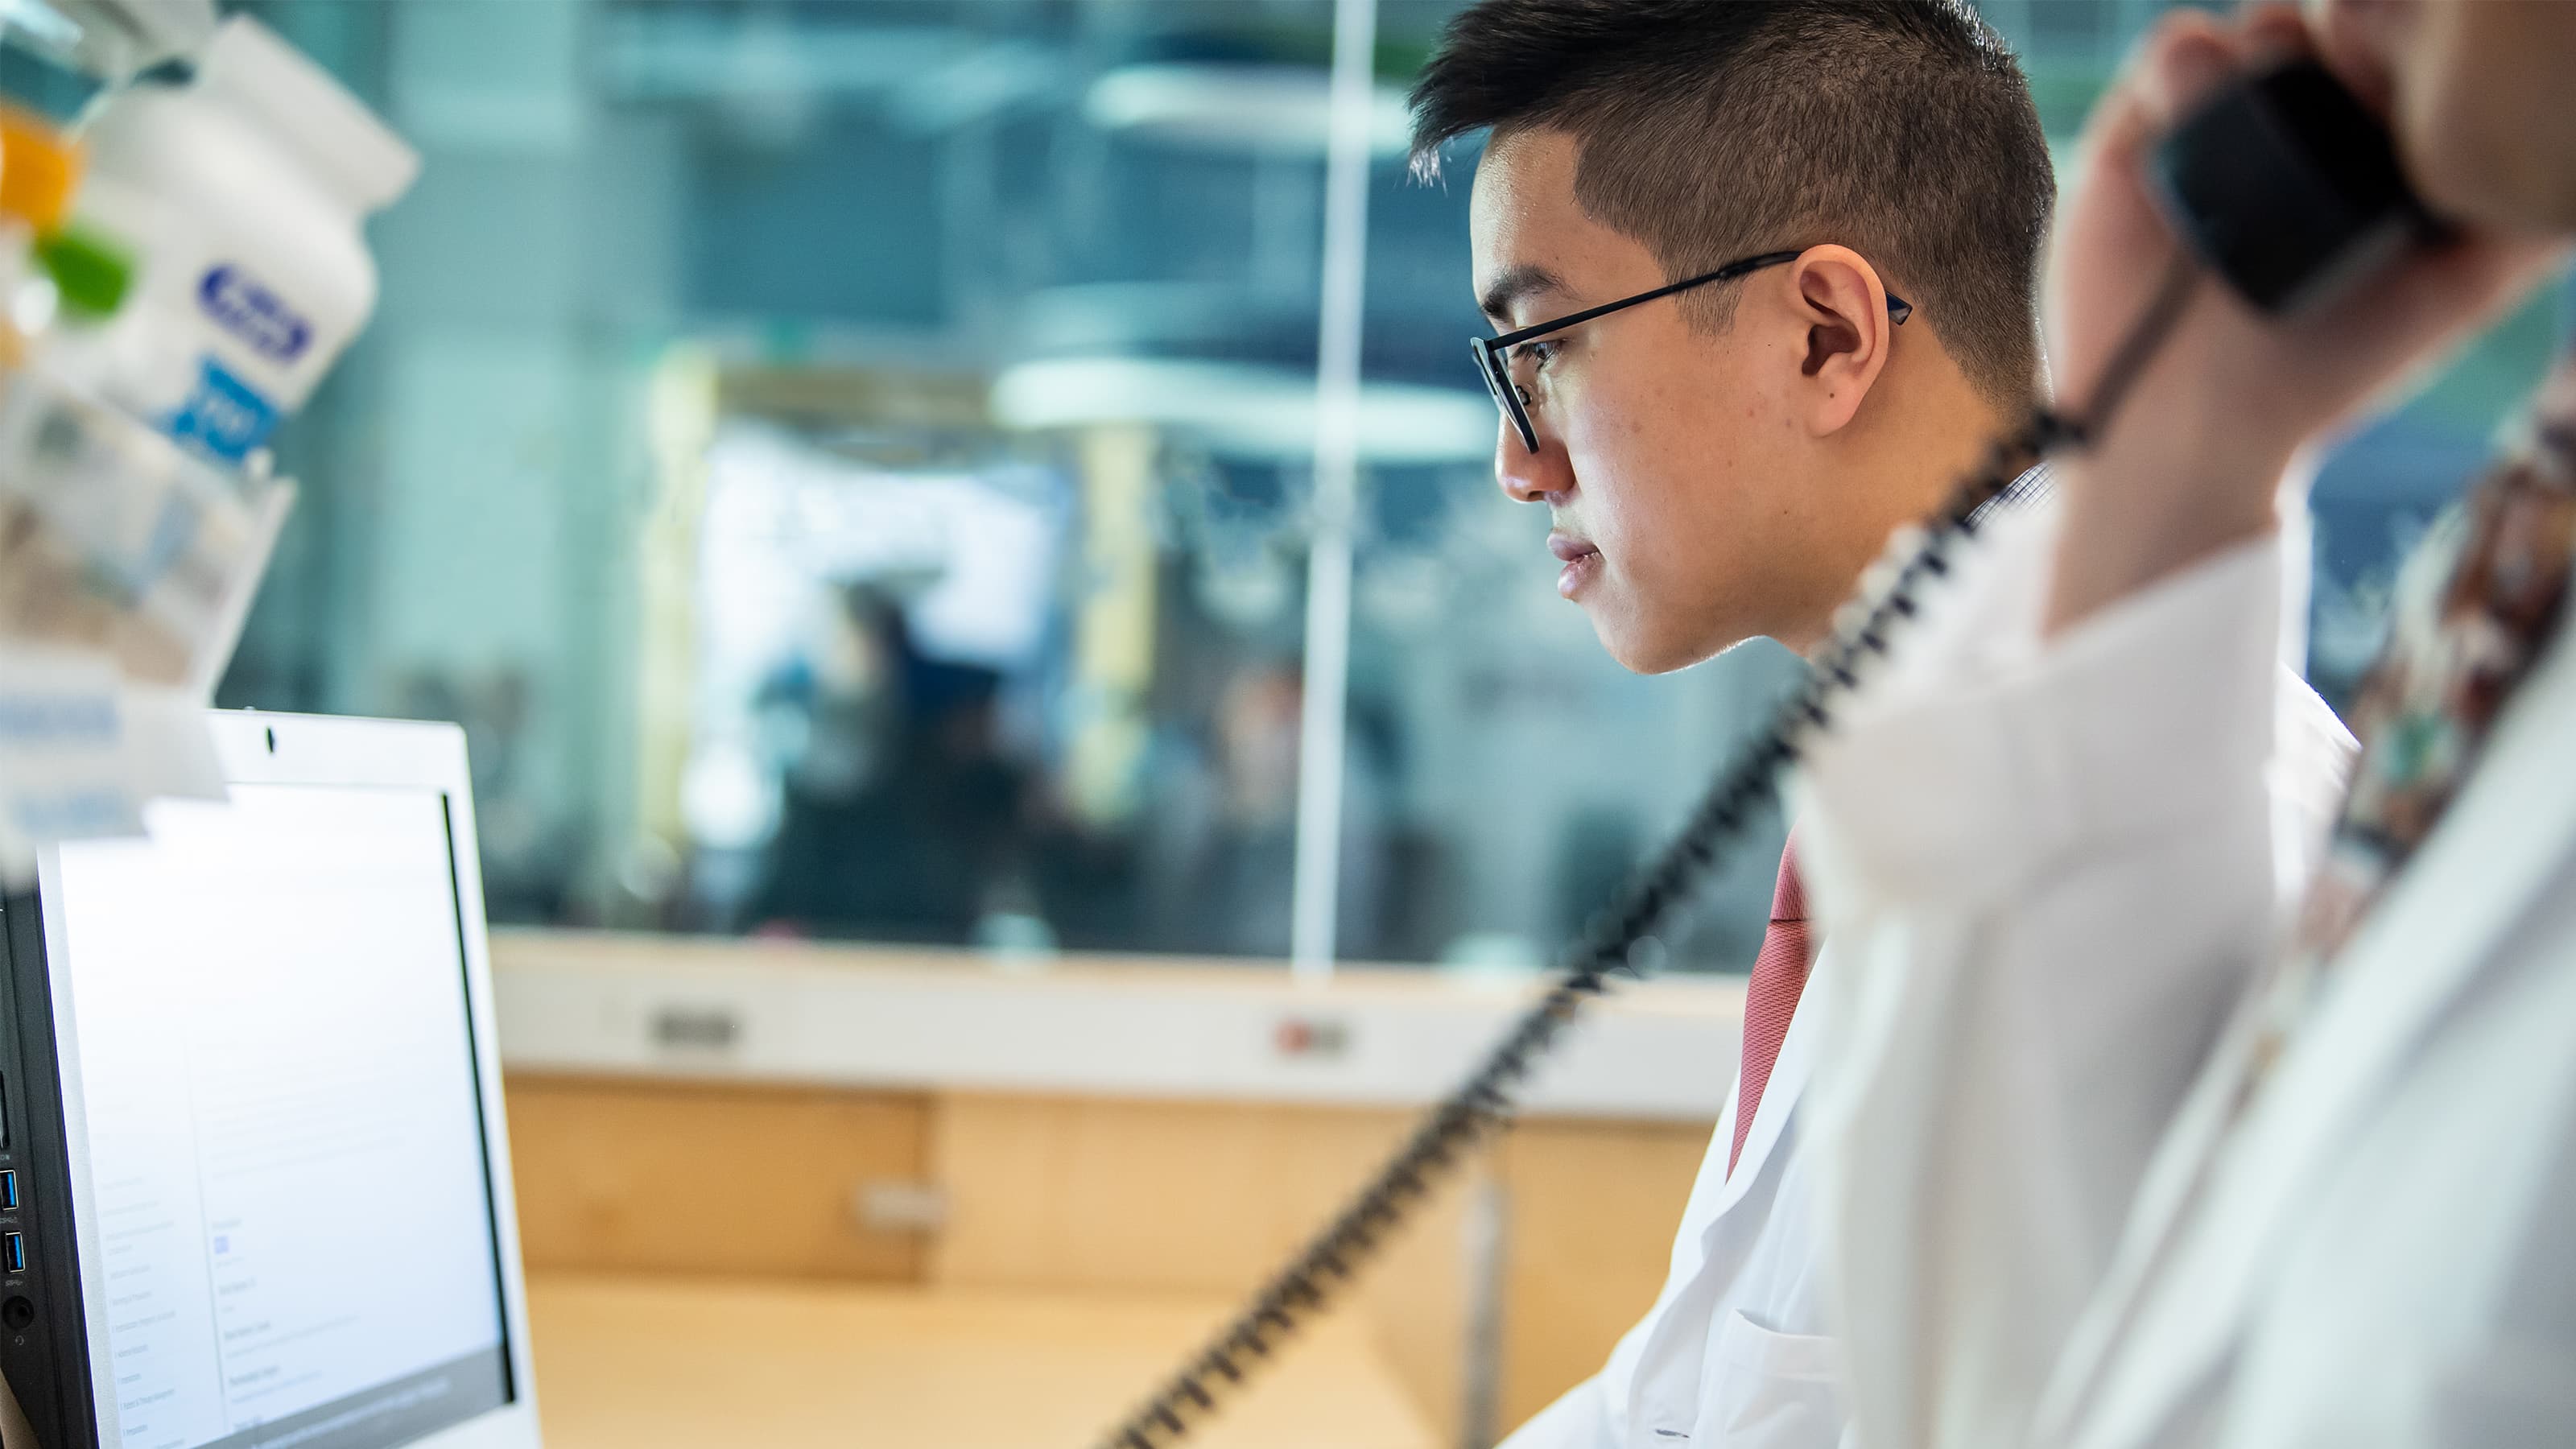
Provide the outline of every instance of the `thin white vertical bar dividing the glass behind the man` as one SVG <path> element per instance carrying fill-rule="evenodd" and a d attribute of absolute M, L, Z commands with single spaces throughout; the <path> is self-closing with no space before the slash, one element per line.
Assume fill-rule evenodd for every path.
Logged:
<path fill-rule="evenodd" d="M 1368 294 L 1376 49 L 1378 0 L 1334 0 L 1324 297 L 1314 366 L 1314 539 L 1306 552 L 1306 701 L 1288 928 L 1291 972 L 1301 982 L 1332 980 L 1342 908 L 1342 724 L 1350 696 L 1350 529 L 1360 482 L 1360 317 Z"/>

